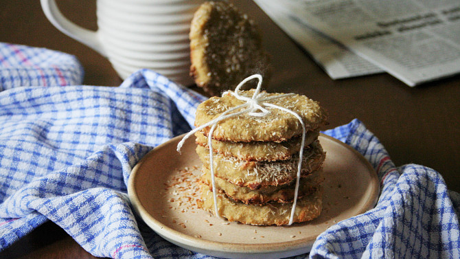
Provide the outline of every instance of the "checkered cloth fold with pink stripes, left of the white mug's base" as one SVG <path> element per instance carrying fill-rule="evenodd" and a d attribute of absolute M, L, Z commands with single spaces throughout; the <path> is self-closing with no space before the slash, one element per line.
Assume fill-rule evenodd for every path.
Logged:
<path fill-rule="evenodd" d="M 43 47 L 0 43 L 0 91 L 82 82 L 83 69 L 75 56 Z"/>

